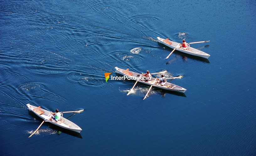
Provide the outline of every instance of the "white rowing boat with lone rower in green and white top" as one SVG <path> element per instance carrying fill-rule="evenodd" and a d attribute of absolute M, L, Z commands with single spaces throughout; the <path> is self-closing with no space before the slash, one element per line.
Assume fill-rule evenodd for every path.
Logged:
<path fill-rule="evenodd" d="M 77 126 L 76 124 L 74 124 L 73 122 L 69 121 L 68 119 L 65 119 L 62 117 L 63 114 L 61 114 L 61 119 L 57 122 L 55 122 L 54 120 L 49 120 L 50 116 L 51 116 L 51 112 L 48 110 L 44 110 L 41 109 L 41 107 L 36 107 L 36 106 L 32 106 L 30 104 L 27 104 L 29 110 L 31 110 L 33 113 L 35 113 L 37 116 L 39 116 L 40 118 L 44 119 L 46 122 L 50 122 L 52 124 L 55 124 L 56 126 L 59 126 L 61 128 L 64 129 L 68 129 L 68 130 L 72 130 L 75 132 L 80 133 L 82 131 L 82 129 Z"/>

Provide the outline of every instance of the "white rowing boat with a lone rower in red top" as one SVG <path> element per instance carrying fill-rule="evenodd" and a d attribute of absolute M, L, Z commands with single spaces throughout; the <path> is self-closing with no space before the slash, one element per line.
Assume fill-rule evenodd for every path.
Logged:
<path fill-rule="evenodd" d="M 181 52 L 184 52 L 186 54 L 190 54 L 190 55 L 194 55 L 194 56 L 199 56 L 199 57 L 203 57 L 203 58 L 206 58 L 208 59 L 208 57 L 210 57 L 209 54 L 203 52 L 203 51 L 200 51 L 198 49 L 195 49 L 195 48 L 192 48 L 190 46 L 187 46 L 187 49 L 180 49 L 179 48 L 179 43 L 177 42 L 174 42 L 174 41 L 170 41 L 169 39 L 163 39 L 163 38 L 160 38 L 160 37 L 157 37 L 157 41 L 170 47 L 170 48 L 176 48 L 176 50 L 178 51 L 181 51 Z M 178 47 L 177 47 L 178 46 Z"/>

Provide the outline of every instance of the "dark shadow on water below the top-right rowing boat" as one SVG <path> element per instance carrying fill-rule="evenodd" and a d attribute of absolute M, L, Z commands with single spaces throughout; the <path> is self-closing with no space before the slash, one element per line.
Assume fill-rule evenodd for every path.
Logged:
<path fill-rule="evenodd" d="M 159 46 L 164 47 L 167 51 L 170 51 L 170 52 L 173 51 L 172 48 L 170 48 L 170 47 L 168 47 L 168 46 L 165 46 L 165 45 L 163 45 L 162 43 L 159 43 L 159 42 L 157 42 L 157 43 L 158 43 Z M 186 58 L 190 58 L 190 59 L 193 59 L 193 60 L 202 61 L 202 62 L 205 62 L 205 63 L 210 63 L 210 61 L 209 61 L 208 59 L 203 58 L 203 57 L 198 57 L 198 56 L 189 55 L 189 54 L 186 54 L 186 53 L 184 53 L 184 52 L 177 51 L 177 50 L 175 50 L 174 53 L 177 54 L 177 55 L 182 56 L 182 59 L 183 59 L 184 61 L 186 61 Z M 166 53 L 166 56 L 168 56 L 168 54 L 169 54 L 169 53 Z M 168 62 L 167 62 L 166 64 L 168 64 Z"/>

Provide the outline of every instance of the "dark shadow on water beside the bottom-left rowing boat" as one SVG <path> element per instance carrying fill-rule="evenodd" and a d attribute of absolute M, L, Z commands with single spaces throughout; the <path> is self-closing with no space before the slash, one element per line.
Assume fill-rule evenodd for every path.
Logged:
<path fill-rule="evenodd" d="M 43 121 L 43 119 L 41 119 L 40 117 L 38 117 L 37 115 L 35 115 L 35 113 L 31 112 L 30 110 L 28 110 L 28 111 L 29 111 L 29 115 L 32 115 L 32 116 L 33 116 L 35 119 L 37 119 L 37 120 Z M 73 116 L 73 115 L 71 115 L 71 116 Z M 70 118 L 71 116 L 69 116 L 68 118 Z M 57 133 L 58 135 L 60 135 L 61 133 L 65 133 L 65 134 L 72 135 L 72 136 L 75 136 L 75 137 L 77 137 L 77 138 L 83 139 L 83 138 L 82 138 L 82 135 L 81 135 L 80 133 L 73 132 L 73 131 L 68 130 L 68 129 L 63 129 L 63 128 L 58 127 L 58 126 L 56 126 L 56 125 L 54 125 L 54 124 L 51 124 L 51 123 L 49 123 L 49 122 L 44 122 L 44 124 L 47 124 L 49 128 L 56 130 L 56 133 Z M 39 126 L 39 125 L 38 125 L 38 126 Z"/>

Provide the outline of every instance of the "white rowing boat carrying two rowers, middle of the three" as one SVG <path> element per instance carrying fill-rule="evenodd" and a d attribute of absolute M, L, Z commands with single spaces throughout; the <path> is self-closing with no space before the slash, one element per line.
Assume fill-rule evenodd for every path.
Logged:
<path fill-rule="evenodd" d="M 127 72 L 128 71 L 128 72 Z M 136 72 L 132 72 L 129 70 L 124 70 L 124 69 L 120 69 L 118 67 L 115 67 L 115 72 L 121 75 L 125 75 L 125 76 L 133 76 L 133 77 L 138 77 L 141 76 L 141 74 L 136 73 Z M 180 93 L 184 93 L 186 91 L 185 88 L 182 88 L 178 85 L 174 85 L 172 83 L 166 82 L 165 85 L 155 85 L 155 78 L 152 78 L 149 81 L 143 81 L 143 80 L 139 80 L 138 82 L 146 84 L 146 85 L 153 85 L 153 87 L 156 88 L 160 88 L 160 89 L 164 89 L 164 90 L 170 90 L 170 91 L 175 91 L 175 92 L 180 92 Z"/>

